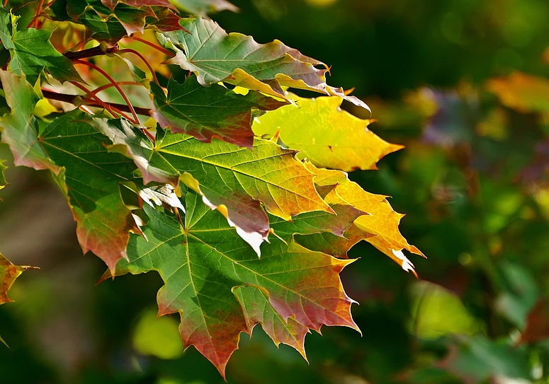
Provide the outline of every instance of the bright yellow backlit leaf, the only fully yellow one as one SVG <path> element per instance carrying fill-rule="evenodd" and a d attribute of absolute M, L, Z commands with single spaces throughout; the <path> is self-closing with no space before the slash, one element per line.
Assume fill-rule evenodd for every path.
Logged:
<path fill-rule="evenodd" d="M 402 149 L 371 132 L 370 120 L 341 110 L 343 99 L 338 96 L 292 98 L 297 107 L 288 105 L 259 117 L 254 133 L 266 137 L 279 134 L 285 146 L 302 151 L 302 158 L 324 168 L 347 171 L 375 169 L 380 158 Z"/>

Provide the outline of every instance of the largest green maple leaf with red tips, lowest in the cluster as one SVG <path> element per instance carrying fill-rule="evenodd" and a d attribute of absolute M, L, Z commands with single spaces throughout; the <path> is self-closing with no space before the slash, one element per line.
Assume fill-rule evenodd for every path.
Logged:
<path fill-rule="evenodd" d="M 157 270 L 165 283 L 157 296 L 159 315 L 179 312 L 183 344 L 194 345 L 222 375 L 239 334 L 251 332 L 256 322 L 262 322 L 275 342 L 298 349 L 303 327 L 318 331 L 322 325 L 343 325 L 358 330 L 351 318 L 353 301 L 339 280 L 349 260 L 276 238 L 261 246 L 258 258 L 197 194 L 186 194 L 186 211 L 181 226 L 171 214 L 145 206 L 148 241 L 132 236 L 130 262 L 121 260 L 116 274 Z M 264 302 L 255 301 L 255 294 L 234 292 L 239 287 L 260 289 Z"/>

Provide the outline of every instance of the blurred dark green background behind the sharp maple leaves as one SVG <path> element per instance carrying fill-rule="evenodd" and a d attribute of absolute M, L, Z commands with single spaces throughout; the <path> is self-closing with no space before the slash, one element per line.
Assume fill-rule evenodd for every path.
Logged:
<path fill-rule="evenodd" d="M 367 243 L 342 274 L 363 335 L 307 336 L 307 364 L 259 329 L 228 383 L 548 383 L 549 2 L 234 0 L 212 16 L 332 66 L 406 149 L 351 179 L 392 196 L 401 231 L 427 257 L 420 279 Z M 364 115 L 361 110 L 351 112 Z M 6 148 L 1 155 L 9 157 Z M 47 173 L 11 168 L 0 192 L 1 252 L 23 274 L 0 306 L 0 383 L 223 383 L 177 316 L 155 320 L 156 274 L 94 286 Z"/>

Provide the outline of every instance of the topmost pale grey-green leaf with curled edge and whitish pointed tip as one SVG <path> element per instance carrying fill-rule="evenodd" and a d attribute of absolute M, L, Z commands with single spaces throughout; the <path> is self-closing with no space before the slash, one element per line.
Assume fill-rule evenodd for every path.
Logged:
<path fill-rule="evenodd" d="M 159 34 L 164 47 L 176 52 L 176 57 L 166 63 L 193 71 L 203 86 L 225 81 L 280 98 L 286 98 L 281 87 L 288 86 L 339 95 L 369 110 L 358 98 L 327 85 L 325 64 L 278 40 L 258 44 L 240 33 L 227 34 L 217 23 L 200 16 L 184 18 L 180 23 L 190 33 Z"/>

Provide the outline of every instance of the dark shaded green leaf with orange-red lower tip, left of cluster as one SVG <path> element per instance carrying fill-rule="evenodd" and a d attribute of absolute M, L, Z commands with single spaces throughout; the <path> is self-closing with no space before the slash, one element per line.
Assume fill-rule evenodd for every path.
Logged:
<path fill-rule="evenodd" d="M 135 163 L 120 153 L 74 110 L 45 127 L 40 144 L 55 165 L 63 167 L 56 178 L 67 197 L 78 240 L 84 252 L 94 252 L 113 269 L 126 255 L 130 231 L 139 233 L 132 214 L 120 197 L 121 182 L 141 184 Z"/>

